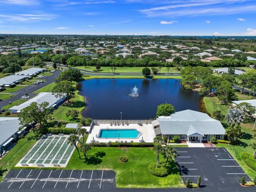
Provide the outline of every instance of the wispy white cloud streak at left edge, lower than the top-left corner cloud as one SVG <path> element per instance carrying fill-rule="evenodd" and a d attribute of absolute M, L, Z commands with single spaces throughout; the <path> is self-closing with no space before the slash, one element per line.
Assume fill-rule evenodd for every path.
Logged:
<path fill-rule="evenodd" d="M 55 18 L 55 15 L 48 13 L 35 13 L 35 14 L 0 14 L 0 18 L 7 19 L 9 21 L 15 22 L 35 22 L 43 20 L 52 20 Z"/>

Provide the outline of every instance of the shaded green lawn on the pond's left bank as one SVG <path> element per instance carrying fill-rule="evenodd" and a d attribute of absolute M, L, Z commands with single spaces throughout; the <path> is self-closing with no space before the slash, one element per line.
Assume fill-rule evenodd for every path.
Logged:
<path fill-rule="evenodd" d="M 80 119 L 73 119 L 71 117 L 67 117 L 66 113 L 69 109 L 77 109 L 80 113 L 85 108 L 85 102 L 84 97 L 82 95 L 78 94 L 78 91 L 76 91 L 75 98 L 72 98 L 70 100 L 70 104 L 64 103 L 61 105 L 57 110 L 53 112 L 53 117 L 57 121 L 66 121 L 69 123 L 79 123 Z M 81 114 L 79 114 L 79 117 L 81 117 Z"/>

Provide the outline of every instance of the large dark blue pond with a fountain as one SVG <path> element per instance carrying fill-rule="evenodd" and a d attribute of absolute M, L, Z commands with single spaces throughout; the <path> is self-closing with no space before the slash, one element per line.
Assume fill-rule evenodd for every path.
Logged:
<path fill-rule="evenodd" d="M 90 79 L 79 91 L 86 102 L 82 115 L 93 119 L 121 119 L 121 112 L 122 119 L 150 119 L 161 103 L 201 111 L 199 93 L 185 90 L 180 79 Z"/>

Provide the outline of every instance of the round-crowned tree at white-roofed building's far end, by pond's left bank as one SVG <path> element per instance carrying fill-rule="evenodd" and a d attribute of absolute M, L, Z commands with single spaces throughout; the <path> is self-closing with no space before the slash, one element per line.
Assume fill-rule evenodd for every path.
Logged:
<path fill-rule="evenodd" d="M 69 81 L 58 82 L 52 89 L 55 97 L 66 97 L 69 103 L 70 99 L 74 97 L 75 91 L 74 83 Z"/>

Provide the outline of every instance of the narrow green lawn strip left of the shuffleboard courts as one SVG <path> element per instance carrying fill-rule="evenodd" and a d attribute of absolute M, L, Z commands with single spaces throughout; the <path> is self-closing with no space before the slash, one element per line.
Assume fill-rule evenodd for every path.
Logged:
<path fill-rule="evenodd" d="M 10 171 L 20 161 L 20 159 L 26 155 L 29 149 L 36 143 L 36 140 L 28 140 L 28 137 L 34 137 L 34 133 L 29 132 L 25 138 L 20 139 L 10 151 L 0 160 L 0 167 Z M 3 179 L 5 172 L 2 176 L 0 175 L 0 181 Z"/>

